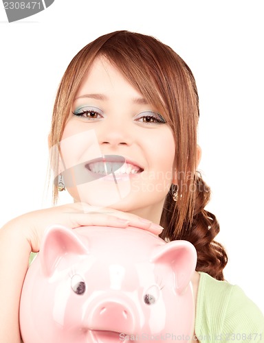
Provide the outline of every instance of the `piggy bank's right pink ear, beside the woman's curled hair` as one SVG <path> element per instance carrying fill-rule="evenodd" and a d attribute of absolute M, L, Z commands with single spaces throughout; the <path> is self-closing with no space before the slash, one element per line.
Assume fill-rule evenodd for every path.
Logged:
<path fill-rule="evenodd" d="M 188 241 L 170 241 L 155 249 L 151 256 L 151 262 L 171 266 L 175 276 L 175 290 L 181 294 L 195 272 L 197 252 Z"/>

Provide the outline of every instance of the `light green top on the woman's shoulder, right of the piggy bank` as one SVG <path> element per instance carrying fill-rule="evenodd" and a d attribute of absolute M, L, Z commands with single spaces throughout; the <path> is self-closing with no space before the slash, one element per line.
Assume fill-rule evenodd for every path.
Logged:
<path fill-rule="evenodd" d="M 199 272 L 195 334 L 200 342 L 263 342 L 264 317 L 243 290 Z"/>

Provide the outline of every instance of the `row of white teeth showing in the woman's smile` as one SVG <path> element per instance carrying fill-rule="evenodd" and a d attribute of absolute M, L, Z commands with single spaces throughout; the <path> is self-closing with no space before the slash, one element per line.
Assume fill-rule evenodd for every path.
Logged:
<path fill-rule="evenodd" d="M 89 170 L 96 174 L 110 174 L 114 172 L 115 174 L 137 174 L 140 172 L 140 167 L 135 165 L 130 165 L 128 163 L 118 163 L 118 162 L 96 162 L 89 164 Z"/>

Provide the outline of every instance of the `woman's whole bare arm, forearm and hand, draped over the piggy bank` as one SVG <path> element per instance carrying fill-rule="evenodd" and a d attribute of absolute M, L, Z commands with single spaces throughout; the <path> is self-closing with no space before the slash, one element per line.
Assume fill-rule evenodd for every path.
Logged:
<path fill-rule="evenodd" d="M 77 203 L 26 213 L 5 224 L 0 229 L 0 342 L 21 342 L 19 301 L 30 252 L 39 251 L 44 230 L 51 224 L 69 228 L 130 225 L 156 234 L 162 231 L 160 226 L 131 213 L 92 206 L 84 212 Z"/>

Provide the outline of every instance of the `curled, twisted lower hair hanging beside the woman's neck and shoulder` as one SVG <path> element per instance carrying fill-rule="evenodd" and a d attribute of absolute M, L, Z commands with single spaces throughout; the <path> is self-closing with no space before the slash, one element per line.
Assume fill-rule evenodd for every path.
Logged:
<path fill-rule="evenodd" d="M 214 237 L 217 236 L 220 230 L 216 217 L 204 209 L 210 200 L 210 188 L 199 173 L 196 175 L 195 182 L 195 208 L 192 222 L 185 220 L 181 231 L 176 232 L 175 220 L 179 217 L 179 213 L 177 213 L 179 211 L 177 211 L 177 204 L 169 193 L 164 204 L 161 220 L 164 233 L 160 237 L 169 241 L 175 239 L 190 241 L 197 250 L 197 272 L 206 272 L 214 279 L 223 280 L 223 268 L 228 262 L 228 256 L 223 246 L 214 241 Z M 173 216 L 171 217 L 172 213 Z M 169 218 L 170 221 L 168 222 Z"/>

